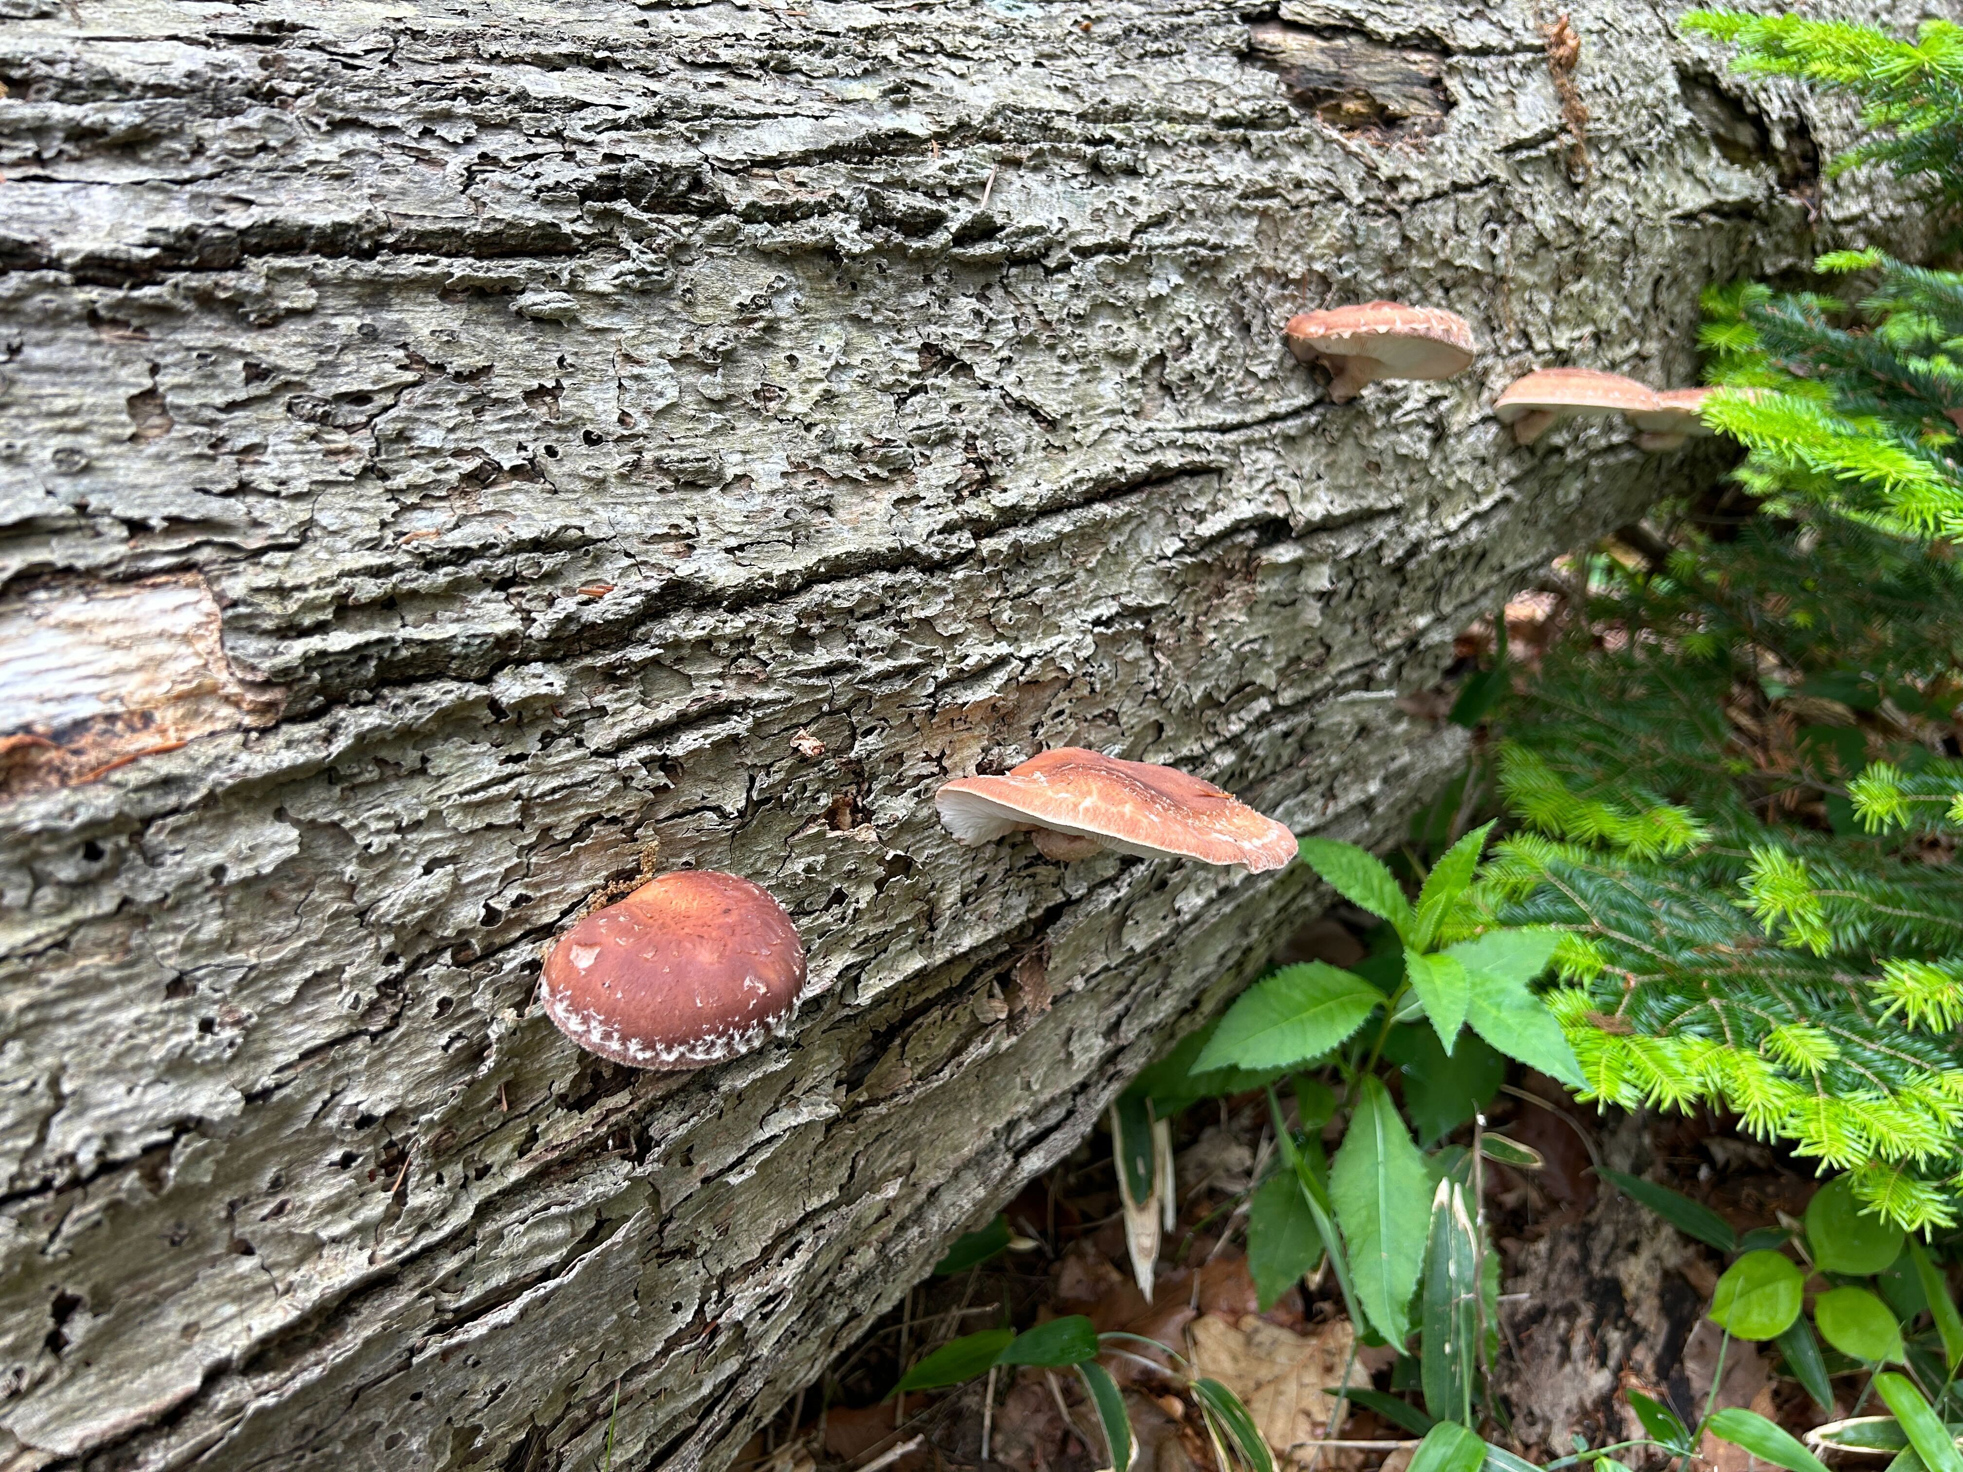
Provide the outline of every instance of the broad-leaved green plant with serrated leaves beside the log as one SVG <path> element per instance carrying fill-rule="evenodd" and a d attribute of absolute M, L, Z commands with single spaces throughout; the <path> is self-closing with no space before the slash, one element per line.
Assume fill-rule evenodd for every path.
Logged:
<path fill-rule="evenodd" d="M 1580 1078 L 1557 1019 L 1533 991 L 1559 938 L 1498 926 L 1476 903 L 1488 834 L 1490 824 L 1453 844 L 1423 875 L 1415 901 L 1372 854 L 1305 840 L 1303 862 L 1384 920 L 1374 954 L 1354 970 L 1309 962 L 1262 977 L 1215 1025 L 1146 1070 L 1113 1113 L 1113 1138 L 1135 1138 L 1127 1117 L 1162 1121 L 1197 1097 L 1266 1091 L 1276 1168 L 1252 1189 L 1247 1227 L 1258 1301 L 1270 1307 L 1327 1260 L 1360 1335 L 1402 1354 L 1421 1352 L 1429 1415 L 1380 1397 L 1398 1407 L 1388 1415 L 1421 1433 L 1437 1423 L 1472 1427 L 1484 1409 L 1498 1258 L 1468 1205 L 1478 1195 L 1476 1152 L 1427 1154 L 1386 1079 L 1402 1078 L 1407 1113 L 1429 1146 L 1494 1097 L 1506 1056 Z M 1343 1123 L 1343 1138 L 1331 1160 L 1323 1136 L 1333 1121 Z M 1476 1144 L 1508 1164 L 1539 1166 L 1531 1150 L 1484 1129 Z M 1431 1213 L 1413 1213 L 1413 1199 L 1429 1199 Z M 1341 1393 L 1376 1405 L 1376 1392 Z"/>

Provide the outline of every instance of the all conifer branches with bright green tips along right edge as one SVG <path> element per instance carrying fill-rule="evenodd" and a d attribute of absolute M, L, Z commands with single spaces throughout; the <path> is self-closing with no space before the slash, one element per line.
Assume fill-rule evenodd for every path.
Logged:
<path fill-rule="evenodd" d="M 1963 208 L 1957 26 L 1686 26 L 1857 96 L 1873 137 L 1841 167 Z M 1759 514 L 1684 532 L 1663 569 L 1592 563 L 1580 628 L 1500 722 L 1527 832 L 1478 897 L 1563 932 L 1549 1003 L 1584 1097 L 1718 1103 L 1928 1229 L 1963 1189 L 1963 567 L 1934 540 L 1963 536 L 1963 275 L 1820 269 L 1859 304 L 1706 298 L 1704 418 L 1749 449 Z"/>

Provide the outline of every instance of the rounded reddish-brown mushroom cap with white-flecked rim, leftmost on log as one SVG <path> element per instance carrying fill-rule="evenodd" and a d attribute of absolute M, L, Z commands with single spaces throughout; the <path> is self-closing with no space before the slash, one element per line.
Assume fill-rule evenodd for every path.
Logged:
<path fill-rule="evenodd" d="M 546 956 L 546 1015 L 587 1052 L 630 1068 L 701 1068 L 791 1021 L 805 946 L 769 891 L 677 869 L 593 911 Z"/>

